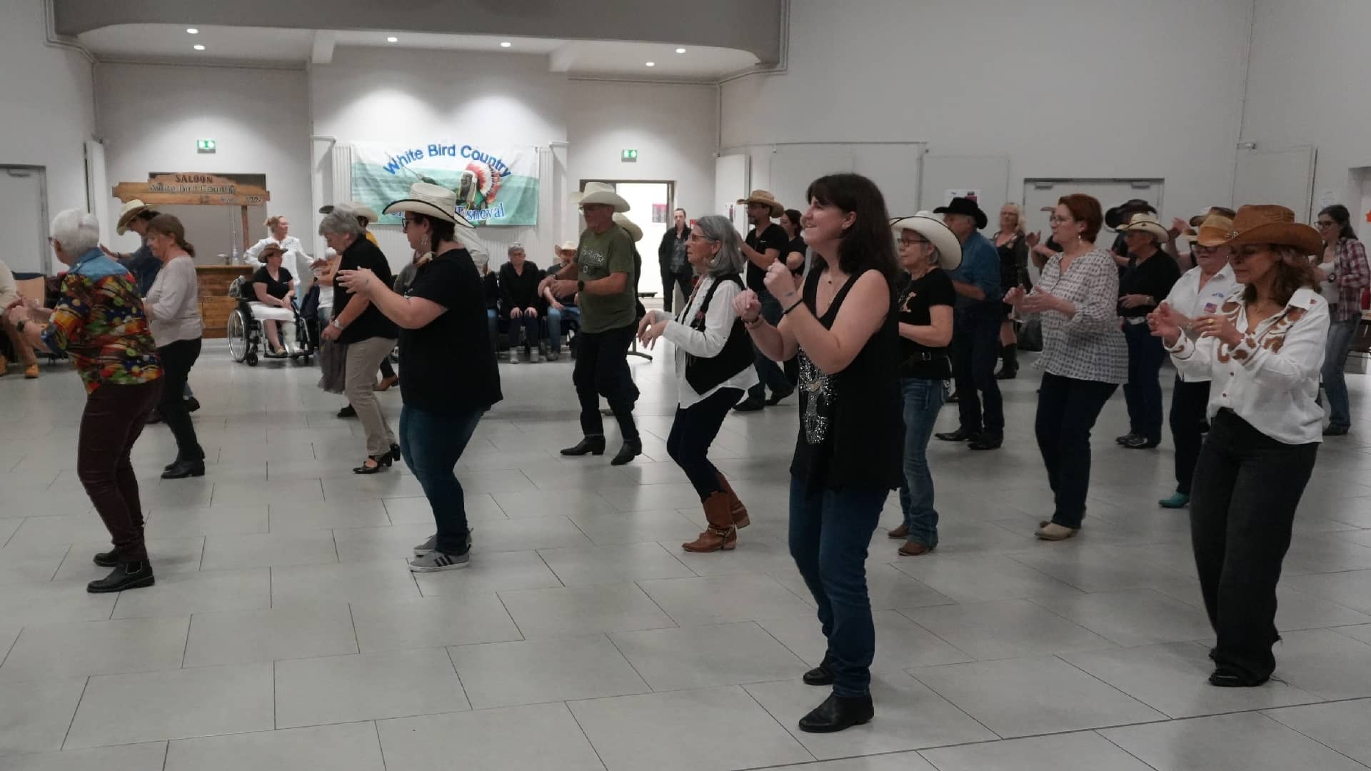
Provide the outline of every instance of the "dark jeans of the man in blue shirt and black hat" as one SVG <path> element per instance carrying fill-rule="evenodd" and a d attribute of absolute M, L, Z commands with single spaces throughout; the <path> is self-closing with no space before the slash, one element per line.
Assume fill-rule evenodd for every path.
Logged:
<path fill-rule="evenodd" d="M 1001 321 L 1004 314 L 999 303 L 980 303 L 957 313 L 951 339 L 951 372 L 957 383 L 961 428 L 976 432 L 984 429 L 995 436 L 1005 434 L 1005 402 L 999 395 L 999 381 L 995 380 Z"/>

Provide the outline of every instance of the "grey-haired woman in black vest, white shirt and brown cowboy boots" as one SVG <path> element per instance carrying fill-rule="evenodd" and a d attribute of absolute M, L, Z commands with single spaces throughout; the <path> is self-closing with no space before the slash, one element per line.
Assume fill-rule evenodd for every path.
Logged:
<path fill-rule="evenodd" d="M 691 225 L 686 258 L 699 276 L 695 291 L 675 320 L 650 310 L 638 337 L 651 347 L 657 337 L 676 344 L 676 420 L 666 453 L 681 466 L 699 494 L 709 527 L 681 547 L 716 551 L 738 546 L 738 528 L 747 527 L 747 509 L 706 454 L 729 407 L 757 384 L 751 342 L 733 298 L 743 291 L 739 273 L 747 261 L 738 248 L 738 230 L 727 217 L 712 214 Z"/>

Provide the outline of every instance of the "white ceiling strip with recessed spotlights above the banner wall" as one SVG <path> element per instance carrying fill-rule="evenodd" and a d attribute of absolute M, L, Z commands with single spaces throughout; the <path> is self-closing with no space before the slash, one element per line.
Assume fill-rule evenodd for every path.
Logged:
<path fill-rule="evenodd" d="M 303 66 L 310 60 L 317 30 L 202 26 L 188 34 L 182 25 L 117 25 L 86 32 L 80 41 L 96 58 L 149 62 L 258 63 Z M 757 58 L 732 48 L 687 47 L 606 40 L 494 37 L 387 30 L 328 32 L 336 45 L 428 48 L 535 54 L 548 56 L 548 69 L 579 77 L 643 80 L 714 80 L 757 64 Z M 387 37 L 396 37 L 388 43 Z M 500 43 L 513 45 L 502 48 Z M 204 51 L 195 51 L 195 45 Z M 654 67 L 647 67 L 654 62 Z"/>

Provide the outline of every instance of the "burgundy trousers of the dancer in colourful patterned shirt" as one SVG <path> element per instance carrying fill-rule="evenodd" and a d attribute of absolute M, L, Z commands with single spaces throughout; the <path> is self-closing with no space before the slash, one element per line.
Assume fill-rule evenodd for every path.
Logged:
<path fill-rule="evenodd" d="M 160 398 L 160 379 L 137 386 L 104 384 L 86 396 L 81 414 L 77 476 L 110 531 L 119 562 L 148 558 L 138 480 L 133 476 L 129 453 Z"/>

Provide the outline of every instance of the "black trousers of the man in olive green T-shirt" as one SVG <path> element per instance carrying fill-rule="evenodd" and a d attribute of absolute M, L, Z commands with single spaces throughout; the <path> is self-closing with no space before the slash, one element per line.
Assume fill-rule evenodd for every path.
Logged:
<path fill-rule="evenodd" d="M 636 332 L 638 325 L 629 324 L 603 332 L 583 331 L 576 336 L 572 383 L 576 384 L 576 398 L 581 402 L 581 432 L 587 436 L 605 434 L 605 423 L 599 414 L 599 398 L 605 396 L 624 439 L 638 439 L 638 425 L 633 424 L 638 386 L 628 369 L 628 346 Z"/>

